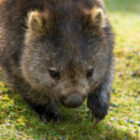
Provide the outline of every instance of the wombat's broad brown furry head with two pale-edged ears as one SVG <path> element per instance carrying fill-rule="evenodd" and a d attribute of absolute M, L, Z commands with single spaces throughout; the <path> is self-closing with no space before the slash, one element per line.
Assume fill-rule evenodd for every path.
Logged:
<path fill-rule="evenodd" d="M 97 7 L 30 12 L 21 62 L 25 80 L 66 107 L 80 106 L 109 64 L 104 20 Z"/>

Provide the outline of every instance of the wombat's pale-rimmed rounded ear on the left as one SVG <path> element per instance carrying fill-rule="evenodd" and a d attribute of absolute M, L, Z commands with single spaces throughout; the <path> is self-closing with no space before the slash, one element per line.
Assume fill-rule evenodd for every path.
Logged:
<path fill-rule="evenodd" d="M 44 17 L 39 11 L 32 11 L 28 14 L 27 26 L 28 29 L 41 32 L 43 30 Z"/>

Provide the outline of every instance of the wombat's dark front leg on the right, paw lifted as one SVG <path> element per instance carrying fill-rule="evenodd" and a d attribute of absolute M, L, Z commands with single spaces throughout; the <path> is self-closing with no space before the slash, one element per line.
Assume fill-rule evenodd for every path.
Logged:
<path fill-rule="evenodd" d="M 95 118 L 97 122 L 107 115 L 111 85 L 111 78 L 107 78 L 88 96 L 87 106 L 92 111 L 93 118 Z"/>

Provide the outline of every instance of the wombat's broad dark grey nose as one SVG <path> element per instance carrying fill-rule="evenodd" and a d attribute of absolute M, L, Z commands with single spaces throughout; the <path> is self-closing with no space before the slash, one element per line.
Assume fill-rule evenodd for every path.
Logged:
<path fill-rule="evenodd" d="M 72 94 L 68 96 L 64 101 L 66 107 L 75 108 L 83 103 L 82 97 L 78 94 Z"/>

